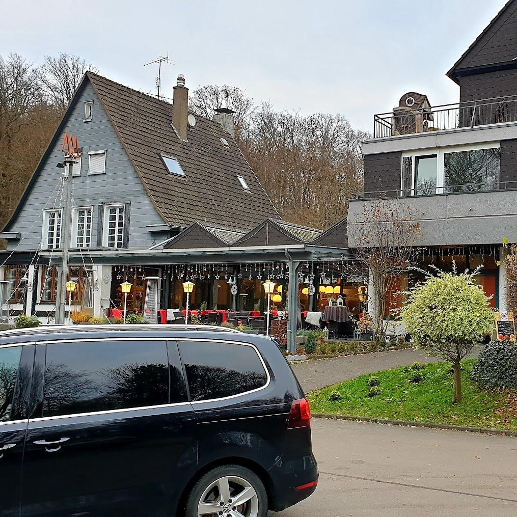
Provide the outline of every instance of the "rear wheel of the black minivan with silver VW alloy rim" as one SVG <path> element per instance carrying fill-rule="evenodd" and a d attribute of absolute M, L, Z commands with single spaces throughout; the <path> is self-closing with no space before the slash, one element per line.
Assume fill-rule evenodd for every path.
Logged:
<path fill-rule="evenodd" d="M 239 514 L 266 517 L 267 507 L 264 483 L 252 470 L 240 465 L 223 465 L 207 472 L 193 486 L 187 499 L 186 517 Z M 234 508 L 239 513 L 234 513 Z"/>

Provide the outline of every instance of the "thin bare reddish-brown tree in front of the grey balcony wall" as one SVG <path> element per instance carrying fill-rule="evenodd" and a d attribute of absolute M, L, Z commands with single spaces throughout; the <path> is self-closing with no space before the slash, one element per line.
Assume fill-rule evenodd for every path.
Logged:
<path fill-rule="evenodd" d="M 422 233 L 415 216 L 413 209 L 399 200 L 379 198 L 365 200 L 362 214 L 348 225 L 349 245 L 373 281 L 369 301 L 376 309 L 372 320 L 378 339 L 385 338 L 388 317 L 399 305 L 400 300 L 393 297 L 402 296 L 404 291 L 398 282 L 417 264 L 415 244 Z"/>

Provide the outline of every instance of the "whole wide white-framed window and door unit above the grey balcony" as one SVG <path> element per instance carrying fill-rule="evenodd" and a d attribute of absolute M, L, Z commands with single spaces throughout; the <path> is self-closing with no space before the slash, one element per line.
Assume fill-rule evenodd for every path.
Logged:
<path fill-rule="evenodd" d="M 409 196 L 498 189 L 499 166 L 499 142 L 407 151 L 401 191 Z"/>

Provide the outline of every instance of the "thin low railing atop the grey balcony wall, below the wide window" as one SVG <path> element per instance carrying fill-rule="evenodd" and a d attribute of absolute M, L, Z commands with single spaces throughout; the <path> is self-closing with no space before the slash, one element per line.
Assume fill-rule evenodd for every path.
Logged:
<path fill-rule="evenodd" d="M 517 189 L 517 180 L 515 181 L 497 181 L 496 183 L 469 183 L 466 185 L 447 185 L 444 187 L 420 187 L 417 189 L 398 189 L 398 190 L 372 190 L 369 192 L 356 192 L 354 199 L 372 199 L 385 198 L 393 199 L 395 197 L 415 197 L 431 196 L 440 194 L 474 194 L 478 192 L 497 192 L 510 189 Z"/>

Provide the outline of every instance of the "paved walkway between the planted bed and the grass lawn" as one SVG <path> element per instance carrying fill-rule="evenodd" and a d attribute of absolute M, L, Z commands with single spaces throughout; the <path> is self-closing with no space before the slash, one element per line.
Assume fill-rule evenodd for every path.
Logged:
<path fill-rule="evenodd" d="M 472 357 L 479 353 L 479 349 L 474 349 Z M 423 350 L 404 349 L 293 362 L 292 367 L 303 390 L 310 393 L 359 375 L 405 366 L 413 361 L 428 363 L 440 359 L 429 357 Z"/>

